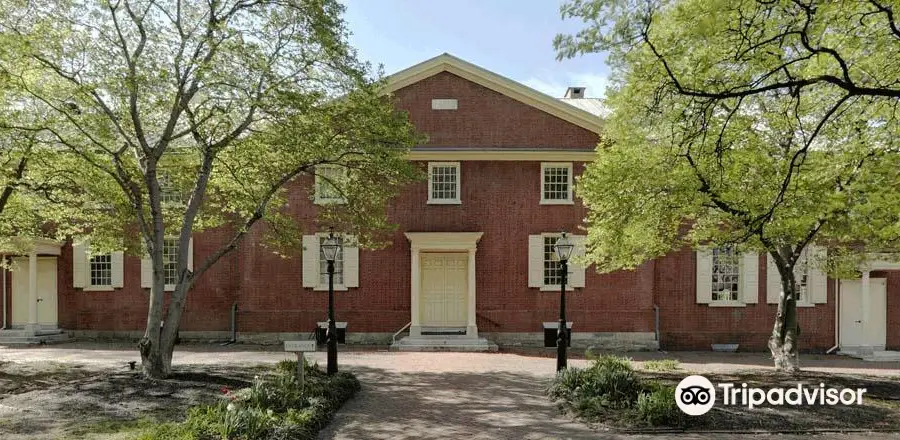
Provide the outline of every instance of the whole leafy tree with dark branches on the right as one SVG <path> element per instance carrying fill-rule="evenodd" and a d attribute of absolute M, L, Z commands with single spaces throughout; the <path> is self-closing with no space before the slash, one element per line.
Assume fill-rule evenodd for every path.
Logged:
<path fill-rule="evenodd" d="M 560 57 L 604 52 L 613 114 L 579 181 L 587 256 L 632 268 L 683 246 L 768 254 L 769 348 L 799 370 L 795 269 L 848 275 L 900 244 L 900 32 L 876 1 L 575 0 Z"/>

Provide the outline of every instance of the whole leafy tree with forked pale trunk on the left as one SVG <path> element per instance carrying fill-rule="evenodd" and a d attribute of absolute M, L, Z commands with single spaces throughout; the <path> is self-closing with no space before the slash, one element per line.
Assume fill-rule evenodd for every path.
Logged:
<path fill-rule="evenodd" d="M 25 115 L 8 127 L 52 137 L 104 176 L 90 182 L 149 255 L 152 288 L 139 343 L 145 374 L 171 371 L 176 332 L 197 279 L 264 221 L 270 244 L 295 245 L 284 209 L 297 177 L 321 175 L 346 199 L 322 221 L 378 244 L 385 205 L 417 174 L 417 140 L 347 44 L 333 0 L 12 0 L 0 7 L 0 58 Z M 40 117 L 37 117 L 40 115 Z M 322 173 L 319 173 L 322 174 Z M 197 231 L 232 236 L 193 270 Z M 92 240 L 102 240 L 94 229 Z M 134 234 L 132 234 L 134 235 Z M 177 282 L 164 307 L 164 241 Z M 114 241 L 115 237 L 109 237 Z M 92 241 L 93 245 L 93 241 Z M 161 322 L 164 325 L 160 328 Z"/>

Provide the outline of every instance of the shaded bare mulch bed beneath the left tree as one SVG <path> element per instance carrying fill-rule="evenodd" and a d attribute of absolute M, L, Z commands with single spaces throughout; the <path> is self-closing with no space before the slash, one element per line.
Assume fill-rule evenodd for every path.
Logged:
<path fill-rule="evenodd" d="M 139 370 L 84 370 L 0 364 L 0 438 L 78 437 L 109 421 L 180 420 L 191 406 L 214 402 L 223 388 L 248 386 L 271 367 L 182 366 L 164 380 Z"/>

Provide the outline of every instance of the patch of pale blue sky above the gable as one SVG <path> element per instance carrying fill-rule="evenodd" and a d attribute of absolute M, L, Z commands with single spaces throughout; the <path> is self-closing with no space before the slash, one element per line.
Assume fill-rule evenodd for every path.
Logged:
<path fill-rule="evenodd" d="M 342 0 L 351 44 L 362 59 L 394 73 L 448 52 L 560 97 L 568 86 L 603 96 L 609 69 L 600 55 L 556 61 L 553 37 L 574 33 L 560 0 Z"/>

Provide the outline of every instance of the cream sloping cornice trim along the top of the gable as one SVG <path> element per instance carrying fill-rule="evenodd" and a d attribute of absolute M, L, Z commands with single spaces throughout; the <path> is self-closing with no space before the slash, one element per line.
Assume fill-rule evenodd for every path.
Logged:
<path fill-rule="evenodd" d="M 452 73 L 564 121 L 594 133 L 601 133 L 603 121 L 597 115 L 448 53 L 443 53 L 388 76 L 386 78 L 385 91 L 393 93 L 441 72 Z"/>

